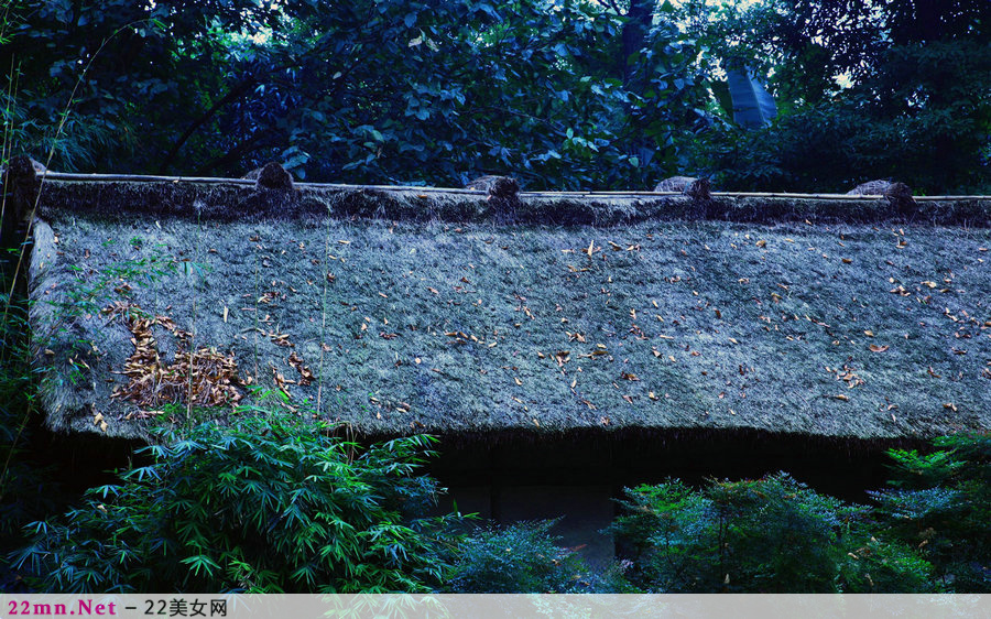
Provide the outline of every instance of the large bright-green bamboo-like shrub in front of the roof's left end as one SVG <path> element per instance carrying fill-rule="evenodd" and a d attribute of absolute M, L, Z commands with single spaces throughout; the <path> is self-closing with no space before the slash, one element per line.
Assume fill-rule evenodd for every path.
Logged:
<path fill-rule="evenodd" d="M 432 438 L 361 448 L 250 417 L 145 449 L 153 464 L 35 522 L 17 564 L 47 591 L 424 591 L 444 519 L 417 476 Z"/>

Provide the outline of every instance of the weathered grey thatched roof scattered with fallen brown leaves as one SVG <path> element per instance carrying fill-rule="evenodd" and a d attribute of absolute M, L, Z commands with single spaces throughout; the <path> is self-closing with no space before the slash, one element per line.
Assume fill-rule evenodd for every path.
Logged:
<path fill-rule="evenodd" d="M 197 414 L 257 399 L 236 365 L 378 435 L 991 427 L 991 200 L 827 198 L 55 177 L 43 405 L 133 436 L 183 376 Z"/>

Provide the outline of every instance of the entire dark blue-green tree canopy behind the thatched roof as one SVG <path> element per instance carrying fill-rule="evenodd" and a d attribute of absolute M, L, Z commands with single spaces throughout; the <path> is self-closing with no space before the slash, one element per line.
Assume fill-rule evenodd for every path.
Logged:
<path fill-rule="evenodd" d="M 991 183 L 989 29 L 983 0 L 24 0 L 0 66 L 9 152 L 64 171 L 962 193 Z"/>

